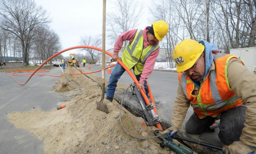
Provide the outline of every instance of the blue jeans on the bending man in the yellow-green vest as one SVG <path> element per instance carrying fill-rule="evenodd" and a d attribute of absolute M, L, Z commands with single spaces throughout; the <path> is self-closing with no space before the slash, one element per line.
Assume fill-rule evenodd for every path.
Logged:
<path fill-rule="evenodd" d="M 114 93 L 116 91 L 118 79 L 120 79 L 120 77 L 123 75 L 125 71 L 126 70 L 119 63 L 116 64 L 114 70 L 111 72 L 109 82 L 107 84 L 106 96 L 110 98 L 114 98 Z M 138 81 L 140 81 L 140 75 L 141 74 L 135 75 Z M 144 86 L 145 86 L 146 95 L 148 96 L 149 92 L 148 92 L 148 86 L 146 81 L 144 82 Z"/>

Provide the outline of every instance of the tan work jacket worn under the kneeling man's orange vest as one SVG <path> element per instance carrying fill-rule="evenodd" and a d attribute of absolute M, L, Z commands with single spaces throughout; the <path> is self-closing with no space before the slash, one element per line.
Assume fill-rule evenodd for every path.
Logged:
<path fill-rule="evenodd" d="M 214 62 L 209 72 L 213 69 L 215 69 Z M 231 90 L 242 99 L 242 104 L 246 105 L 246 122 L 240 141 L 246 145 L 256 147 L 256 75 L 243 66 L 239 59 L 230 59 L 227 65 L 227 78 Z M 197 87 L 193 92 L 198 93 Z M 172 126 L 178 129 L 181 128 L 189 106 L 190 100 L 187 99 L 179 83 L 171 120 Z"/>

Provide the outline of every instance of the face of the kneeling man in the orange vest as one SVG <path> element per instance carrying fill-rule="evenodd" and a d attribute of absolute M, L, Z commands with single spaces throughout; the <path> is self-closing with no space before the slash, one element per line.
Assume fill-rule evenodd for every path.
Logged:
<path fill-rule="evenodd" d="M 203 80 L 204 72 L 205 72 L 205 58 L 204 53 L 201 57 L 196 61 L 196 63 L 189 68 L 188 70 L 184 71 L 185 74 L 191 78 L 195 82 L 200 82 Z"/>

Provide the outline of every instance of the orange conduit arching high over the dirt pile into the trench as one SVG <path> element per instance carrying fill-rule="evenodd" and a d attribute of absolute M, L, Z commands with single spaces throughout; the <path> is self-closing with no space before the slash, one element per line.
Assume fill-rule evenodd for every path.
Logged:
<path fill-rule="evenodd" d="M 98 48 L 98 47 L 95 47 L 95 46 L 88 46 L 88 45 L 74 46 L 74 47 L 71 47 L 71 48 L 62 50 L 62 51 L 58 52 L 57 54 L 54 54 L 53 56 L 51 56 L 51 57 L 50 57 L 49 59 L 47 59 L 44 63 L 42 63 L 42 64 L 30 75 L 30 77 L 28 78 L 28 80 L 27 80 L 26 82 L 24 82 L 24 83 L 18 82 L 18 81 L 17 81 L 14 77 L 12 77 L 12 76 L 10 76 L 10 77 L 12 77 L 12 78 L 14 79 L 14 81 L 16 81 L 17 83 L 19 83 L 20 85 L 25 85 L 27 82 L 29 82 L 30 78 L 31 78 L 40 68 L 42 68 L 42 66 L 43 66 L 45 63 L 47 63 L 49 60 L 53 59 L 54 57 L 58 56 L 59 54 L 62 54 L 63 52 L 66 52 L 66 51 L 68 51 L 68 50 L 80 49 L 80 48 L 93 49 L 93 50 L 98 50 L 98 51 L 101 51 L 101 52 L 102 52 L 102 49 L 101 49 L 101 48 Z M 111 54 L 110 52 L 106 51 L 106 54 L 109 55 L 110 57 L 112 57 L 112 54 Z M 138 80 L 137 80 L 136 77 L 133 75 L 133 73 L 130 71 L 130 69 L 127 68 L 126 65 L 125 65 L 120 59 L 116 59 L 116 61 L 126 70 L 126 72 L 128 72 L 128 74 L 130 75 L 130 77 L 132 78 L 132 80 L 135 82 L 136 86 L 137 86 L 137 87 L 140 87 Z M 7 75 L 7 74 L 6 74 L 6 75 Z M 8 75 L 8 76 L 9 76 L 9 75 Z M 149 101 L 148 97 L 146 96 L 145 92 L 144 92 L 142 89 L 140 90 L 140 93 L 141 93 L 141 95 L 143 96 L 143 98 L 144 98 L 146 104 L 147 104 L 147 105 L 150 104 L 150 101 Z M 151 93 L 151 95 L 152 95 L 152 93 Z M 151 98 L 151 96 L 150 96 L 150 98 Z M 158 115 L 157 112 L 156 112 L 156 108 L 154 108 L 154 111 L 155 111 L 155 114 Z M 157 123 L 157 124 L 156 124 L 156 127 L 157 127 L 159 130 L 163 130 L 163 128 L 161 127 L 161 124 L 160 124 L 160 123 Z"/>

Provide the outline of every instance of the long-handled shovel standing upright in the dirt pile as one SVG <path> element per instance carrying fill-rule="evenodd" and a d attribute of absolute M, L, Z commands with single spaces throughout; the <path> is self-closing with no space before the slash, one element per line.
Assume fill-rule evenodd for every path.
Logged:
<path fill-rule="evenodd" d="M 101 100 L 96 100 L 97 109 L 109 113 L 106 104 L 103 103 L 105 95 L 105 38 L 106 38 L 106 0 L 103 0 L 103 32 L 102 32 L 102 94 Z"/>

